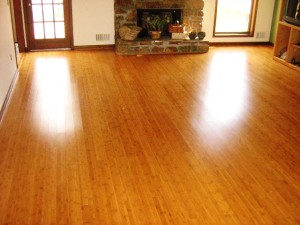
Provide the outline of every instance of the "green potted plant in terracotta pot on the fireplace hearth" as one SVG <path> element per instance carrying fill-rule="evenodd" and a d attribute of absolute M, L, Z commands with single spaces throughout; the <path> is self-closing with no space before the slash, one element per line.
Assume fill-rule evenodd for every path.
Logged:
<path fill-rule="evenodd" d="M 161 18 L 158 15 L 151 15 L 146 18 L 145 25 L 152 39 L 160 38 L 166 23 L 167 23 L 166 19 Z"/>

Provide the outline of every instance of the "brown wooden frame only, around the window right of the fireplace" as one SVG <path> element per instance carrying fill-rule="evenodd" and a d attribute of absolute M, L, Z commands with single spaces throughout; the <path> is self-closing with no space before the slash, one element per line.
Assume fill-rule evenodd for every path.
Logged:
<path fill-rule="evenodd" d="M 247 32 L 216 32 L 218 2 L 219 2 L 219 0 L 216 0 L 213 37 L 254 37 L 258 1 L 259 0 L 252 0 L 251 12 L 250 12 L 250 23 Z"/>

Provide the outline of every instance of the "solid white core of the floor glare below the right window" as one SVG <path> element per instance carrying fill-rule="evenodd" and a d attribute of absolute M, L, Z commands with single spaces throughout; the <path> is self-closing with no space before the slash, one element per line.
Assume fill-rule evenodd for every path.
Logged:
<path fill-rule="evenodd" d="M 243 116 L 247 104 L 247 56 L 215 54 L 204 97 L 204 119 L 230 126 Z"/>

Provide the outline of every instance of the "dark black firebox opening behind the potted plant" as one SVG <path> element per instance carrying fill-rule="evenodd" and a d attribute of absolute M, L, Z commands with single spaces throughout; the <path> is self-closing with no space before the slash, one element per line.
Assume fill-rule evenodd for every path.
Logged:
<path fill-rule="evenodd" d="M 175 24 L 178 21 L 182 23 L 182 9 L 137 9 L 137 25 L 143 30 L 139 33 L 140 38 L 149 37 L 148 30 L 145 25 L 147 17 L 158 15 L 161 18 L 168 18 L 169 23 L 166 24 L 162 31 L 163 37 L 170 37 L 171 33 L 168 30 L 170 24 Z"/>

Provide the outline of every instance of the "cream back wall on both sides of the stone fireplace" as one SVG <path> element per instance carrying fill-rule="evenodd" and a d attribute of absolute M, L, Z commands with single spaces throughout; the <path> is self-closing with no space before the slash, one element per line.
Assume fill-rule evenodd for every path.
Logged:
<path fill-rule="evenodd" d="M 214 38 L 214 13 L 216 0 L 204 0 L 203 31 L 210 42 L 268 42 L 272 27 L 275 0 L 259 0 L 254 37 Z M 114 0 L 73 0 L 74 45 L 114 44 Z M 257 38 L 257 33 L 264 38 Z M 96 34 L 110 34 L 108 41 L 96 41 Z"/>

